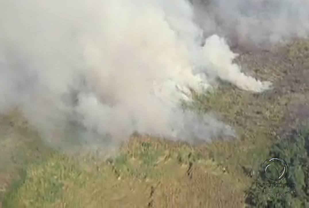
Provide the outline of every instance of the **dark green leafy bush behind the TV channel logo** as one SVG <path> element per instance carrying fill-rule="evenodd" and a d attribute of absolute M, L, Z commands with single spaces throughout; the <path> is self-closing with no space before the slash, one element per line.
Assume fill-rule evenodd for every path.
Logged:
<path fill-rule="evenodd" d="M 269 192 L 269 187 L 266 183 L 273 183 L 267 179 L 263 174 L 264 165 L 261 165 L 259 174 L 256 181 L 259 183 L 265 183 L 264 188 L 260 188 L 258 193 L 258 187 L 256 181 L 252 186 L 246 190 L 246 203 L 247 207 L 259 207 L 259 208 L 301 208 L 309 207 L 309 129 L 303 128 L 299 131 L 293 131 L 288 137 L 278 140 L 270 148 L 269 157 L 281 157 L 283 158 L 290 172 L 286 178 L 277 183 L 294 183 L 295 188 L 290 188 L 290 192 L 287 192 L 288 188 L 280 190 L 281 188 L 273 188 L 273 193 Z M 265 158 L 266 159 L 266 158 Z M 264 159 L 264 160 L 265 160 Z M 272 173 L 270 173 L 272 174 Z M 276 193 L 278 189 L 279 196 L 273 197 L 272 194 Z M 295 193 L 294 193 L 295 189 Z M 288 193 L 286 197 L 281 197 L 281 193 Z M 270 194 L 270 197 L 265 194 Z"/>

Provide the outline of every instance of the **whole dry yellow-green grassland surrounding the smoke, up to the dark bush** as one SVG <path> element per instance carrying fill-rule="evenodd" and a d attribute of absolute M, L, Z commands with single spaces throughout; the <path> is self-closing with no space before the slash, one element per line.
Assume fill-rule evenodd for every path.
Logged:
<path fill-rule="evenodd" d="M 115 158 L 102 157 L 99 149 L 70 154 L 45 145 L 13 110 L 1 118 L 0 207 L 243 207 L 244 190 L 268 147 L 309 114 L 308 48 L 308 41 L 295 40 L 241 54 L 247 74 L 273 81 L 269 92 L 226 83 L 214 92 L 193 92 L 186 108 L 216 113 L 236 129 L 233 140 L 193 146 L 133 135 Z"/>

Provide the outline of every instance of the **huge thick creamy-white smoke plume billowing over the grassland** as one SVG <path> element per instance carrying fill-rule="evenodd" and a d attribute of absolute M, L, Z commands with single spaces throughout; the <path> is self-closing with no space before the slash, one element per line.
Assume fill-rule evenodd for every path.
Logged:
<path fill-rule="evenodd" d="M 0 111 L 18 106 L 52 145 L 70 126 L 90 143 L 133 131 L 231 136 L 214 116 L 183 112 L 179 100 L 216 77 L 254 92 L 270 86 L 244 75 L 218 35 L 201 47 L 184 0 L 0 0 L 0 11 Z"/>

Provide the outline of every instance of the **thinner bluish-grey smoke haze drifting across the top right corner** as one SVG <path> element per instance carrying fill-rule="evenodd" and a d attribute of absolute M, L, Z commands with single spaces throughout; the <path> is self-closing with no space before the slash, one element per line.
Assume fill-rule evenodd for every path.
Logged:
<path fill-rule="evenodd" d="M 307 0 L 191 0 L 206 35 L 228 37 L 235 45 L 267 47 L 309 34 Z"/>

